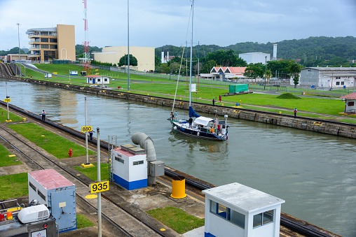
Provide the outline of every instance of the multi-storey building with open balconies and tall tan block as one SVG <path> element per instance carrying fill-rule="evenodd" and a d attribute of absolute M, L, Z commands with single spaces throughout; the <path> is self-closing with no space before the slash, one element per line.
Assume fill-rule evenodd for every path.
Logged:
<path fill-rule="evenodd" d="M 76 60 L 74 25 L 57 24 L 57 27 L 28 29 L 26 34 L 29 35 L 30 60 Z"/>

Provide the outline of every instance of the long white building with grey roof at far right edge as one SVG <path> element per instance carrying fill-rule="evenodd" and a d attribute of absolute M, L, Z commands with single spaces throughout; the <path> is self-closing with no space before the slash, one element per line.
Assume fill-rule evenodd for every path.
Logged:
<path fill-rule="evenodd" d="M 299 85 L 315 87 L 353 87 L 356 78 L 355 67 L 308 67 L 301 69 Z"/>

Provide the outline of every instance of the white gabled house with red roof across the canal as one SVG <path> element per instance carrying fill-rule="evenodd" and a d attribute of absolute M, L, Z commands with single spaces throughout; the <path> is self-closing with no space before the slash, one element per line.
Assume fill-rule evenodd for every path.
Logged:
<path fill-rule="evenodd" d="M 212 80 L 247 79 L 243 76 L 245 69 L 245 66 L 214 66 L 210 73 L 200 73 L 200 77 Z"/>

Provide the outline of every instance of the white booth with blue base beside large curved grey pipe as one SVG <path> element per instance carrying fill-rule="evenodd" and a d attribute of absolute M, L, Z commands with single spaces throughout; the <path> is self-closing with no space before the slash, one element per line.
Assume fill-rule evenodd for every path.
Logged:
<path fill-rule="evenodd" d="M 111 150 L 112 180 L 125 189 L 147 187 L 146 151 L 135 145 L 121 145 Z"/>

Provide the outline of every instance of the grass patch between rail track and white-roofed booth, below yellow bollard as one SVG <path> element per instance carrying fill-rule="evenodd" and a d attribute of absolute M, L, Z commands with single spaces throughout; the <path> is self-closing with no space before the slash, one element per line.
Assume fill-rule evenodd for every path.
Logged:
<path fill-rule="evenodd" d="M 179 234 L 203 227 L 205 222 L 204 219 L 189 215 L 182 209 L 170 206 L 149 210 L 147 213 Z"/>

